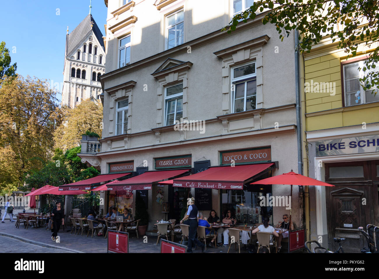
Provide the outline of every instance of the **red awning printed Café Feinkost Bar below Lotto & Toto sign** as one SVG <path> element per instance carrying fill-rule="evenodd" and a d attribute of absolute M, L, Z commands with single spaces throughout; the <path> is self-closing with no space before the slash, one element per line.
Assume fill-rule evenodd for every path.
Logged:
<path fill-rule="evenodd" d="M 210 167 L 188 177 L 174 179 L 174 187 L 243 189 L 244 181 L 273 166 L 274 163 Z"/>

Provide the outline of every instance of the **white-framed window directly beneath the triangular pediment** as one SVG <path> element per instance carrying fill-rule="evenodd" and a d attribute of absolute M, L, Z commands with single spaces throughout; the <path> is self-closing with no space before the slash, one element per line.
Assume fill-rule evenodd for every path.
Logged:
<path fill-rule="evenodd" d="M 165 125 L 172 125 L 175 120 L 180 121 L 180 118 L 183 118 L 183 84 L 164 88 L 164 102 Z"/>

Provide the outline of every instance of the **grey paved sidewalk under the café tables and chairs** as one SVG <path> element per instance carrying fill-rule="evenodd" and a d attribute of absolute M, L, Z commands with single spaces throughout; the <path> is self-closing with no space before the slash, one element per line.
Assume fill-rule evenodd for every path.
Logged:
<path fill-rule="evenodd" d="M 63 231 L 63 228 L 61 227 L 60 232 L 58 232 L 58 235 L 60 236 L 60 243 L 53 242 L 51 237 L 51 230 L 46 230 L 43 227 L 40 228 L 34 228 L 29 227 L 27 230 L 24 229 L 24 225 L 20 224 L 20 227 L 17 229 L 15 227 L 15 222 L 10 222 L 9 220 L 6 220 L 5 223 L 0 223 L 0 233 L 9 233 L 11 235 L 16 235 L 19 237 L 22 237 L 24 239 L 38 241 L 41 243 L 46 243 L 58 247 L 64 247 L 69 248 L 85 253 L 106 253 L 107 248 L 107 240 L 104 238 L 104 236 L 94 236 L 91 238 L 91 235 L 87 237 L 87 232 L 83 232 L 83 236 L 81 234 L 74 235 L 74 233 L 70 234 L 69 230 L 70 227 L 67 227 L 65 231 Z M 164 238 L 165 239 L 165 238 Z M 171 240 L 171 239 L 170 239 Z M 146 240 L 145 240 L 146 241 Z M 176 242 L 180 243 L 180 239 L 177 238 Z M 129 252 L 130 253 L 159 253 L 160 252 L 160 245 L 156 245 L 157 243 L 157 236 L 147 236 L 147 243 L 144 243 L 144 238 L 139 237 L 137 239 L 135 237 L 134 233 L 130 233 L 130 240 L 129 240 Z M 233 245 L 234 246 L 234 245 Z M 230 248 L 230 253 L 235 253 L 234 247 Z M 49 248 L 49 249 L 55 249 L 55 248 Z M 53 251 L 53 250 L 52 250 Z M 211 248 L 207 247 L 207 253 L 226 253 L 228 251 L 228 247 L 217 247 Z M 197 248 L 196 250 L 193 249 L 194 253 L 200 253 L 201 249 Z M 237 251 L 238 253 L 238 246 Z M 241 253 L 247 253 L 245 249 L 243 249 L 243 244 L 241 244 Z"/>

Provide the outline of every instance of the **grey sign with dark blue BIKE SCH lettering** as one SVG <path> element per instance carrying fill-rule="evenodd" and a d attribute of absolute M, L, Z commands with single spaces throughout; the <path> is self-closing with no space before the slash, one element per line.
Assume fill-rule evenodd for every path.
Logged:
<path fill-rule="evenodd" d="M 379 135 L 316 142 L 316 157 L 379 152 Z"/>

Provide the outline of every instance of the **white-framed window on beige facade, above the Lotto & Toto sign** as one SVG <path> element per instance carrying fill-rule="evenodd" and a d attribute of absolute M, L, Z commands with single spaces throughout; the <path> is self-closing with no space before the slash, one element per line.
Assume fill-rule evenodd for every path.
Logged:
<path fill-rule="evenodd" d="M 255 62 L 232 68 L 232 113 L 257 108 Z"/>

